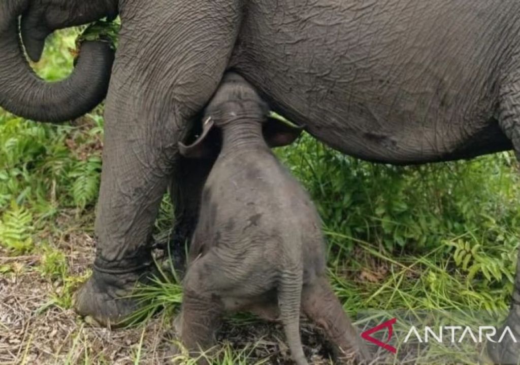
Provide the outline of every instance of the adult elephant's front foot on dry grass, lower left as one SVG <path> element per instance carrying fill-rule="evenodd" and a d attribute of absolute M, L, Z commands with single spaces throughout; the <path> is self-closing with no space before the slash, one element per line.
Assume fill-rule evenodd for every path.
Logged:
<path fill-rule="evenodd" d="M 129 317 L 146 303 L 131 298 L 137 283 L 149 282 L 150 265 L 142 265 L 134 271 L 100 269 L 94 267 L 92 276 L 76 292 L 74 309 L 83 317 L 94 319 L 100 326 L 122 327 Z"/>

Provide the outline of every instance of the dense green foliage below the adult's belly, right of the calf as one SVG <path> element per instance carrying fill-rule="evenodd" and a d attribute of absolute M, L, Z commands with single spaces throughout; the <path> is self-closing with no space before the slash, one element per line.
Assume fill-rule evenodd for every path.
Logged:
<path fill-rule="evenodd" d="M 304 136 L 278 154 L 310 192 L 326 230 L 352 237 L 340 245 L 347 251 L 356 239 L 388 252 L 422 252 L 483 228 L 478 239 L 493 243 L 518 236 L 519 179 L 509 153 L 397 167 L 350 158 Z"/>

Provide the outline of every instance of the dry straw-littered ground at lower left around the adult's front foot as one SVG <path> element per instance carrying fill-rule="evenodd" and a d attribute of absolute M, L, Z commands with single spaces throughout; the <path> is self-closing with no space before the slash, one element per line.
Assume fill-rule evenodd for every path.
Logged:
<path fill-rule="evenodd" d="M 80 240 L 81 245 L 74 245 Z M 93 239 L 84 235 L 69 242 L 71 274 L 83 274 L 92 260 Z M 142 333 L 141 363 L 161 363 L 160 319 L 150 320 L 145 328 L 117 331 L 89 326 L 73 310 L 53 305 L 50 294 L 59 295 L 63 283 L 49 282 L 32 269 L 39 259 L 11 258 L 0 251 L 0 265 L 15 263 L 19 268 L 0 276 L 0 364 L 130 364 Z"/>

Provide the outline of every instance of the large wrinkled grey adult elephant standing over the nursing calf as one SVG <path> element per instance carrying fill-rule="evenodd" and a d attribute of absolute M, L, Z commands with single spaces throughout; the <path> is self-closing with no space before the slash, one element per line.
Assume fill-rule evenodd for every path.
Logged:
<path fill-rule="evenodd" d="M 25 12 L 22 38 L 33 58 L 50 30 L 115 7 L 122 20 L 106 102 L 97 256 L 77 303 L 103 323 L 134 308 L 117 298 L 148 271 L 152 223 L 172 177 L 183 193 L 177 202 L 186 203 L 178 206 L 193 206 L 177 142 L 228 68 L 272 109 L 348 155 L 418 164 L 520 151 L 517 0 L 28 1 L 0 5 L 0 50 L 9 55 L 0 61 L 0 105 L 23 116 L 38 118 L 46 103 L 33 91 L 41 84 L 13 76 L 30 77 L 15 47 L 18 15 Z M 31 17 L 45 21 L 24 26 Z M 74 113 L 48 119 L 85 109 L 63 99 Z M 517 273 L 506 322 L 517 336 L 519 289 Z M 517 344 L 492 345 L 496 360 L 516 363 Z"/>

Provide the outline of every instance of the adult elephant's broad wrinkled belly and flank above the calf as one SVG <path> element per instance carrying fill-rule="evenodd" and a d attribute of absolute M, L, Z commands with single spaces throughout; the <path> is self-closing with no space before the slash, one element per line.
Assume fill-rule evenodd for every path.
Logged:
<path fill-rule="evenodd" d="M 322 142 L 394 164 L 511 148 L 495 119 L 510 61 L 496 55 L 517 47 L 520 4 L 251 3 L 230 66 Z"/>

